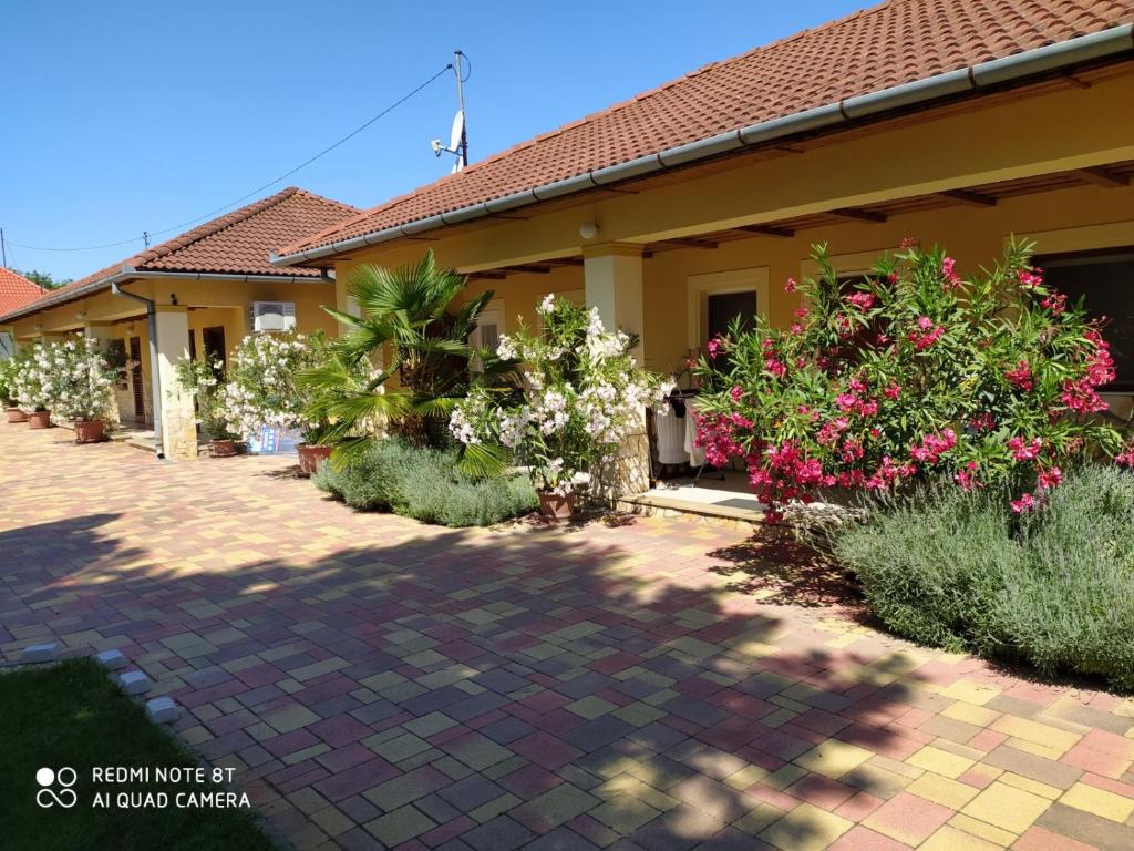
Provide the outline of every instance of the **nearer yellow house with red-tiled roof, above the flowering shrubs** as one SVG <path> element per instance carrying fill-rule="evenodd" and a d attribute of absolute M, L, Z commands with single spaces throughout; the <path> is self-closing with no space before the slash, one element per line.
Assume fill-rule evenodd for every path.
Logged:
<path fill-rule="evenodd" d="M 1016 235 L 1049 281 L 1111 318 L 1110 398 L 1128 412 L 1132 22 L 1124 2 L 891 0 L 536 136 L 272 262 L 333 271 L 346 309 L 359 264 L 432 248 L 469 297 L 493 292 L 490 334 L 558 293 L 637 334 L 665 374 L 737 313 L 787 326 L 798 301 L 782 285 L 812 270 L 814 243 L 847 276 L 905 238 L 947 246 L 964 272 Z"/>

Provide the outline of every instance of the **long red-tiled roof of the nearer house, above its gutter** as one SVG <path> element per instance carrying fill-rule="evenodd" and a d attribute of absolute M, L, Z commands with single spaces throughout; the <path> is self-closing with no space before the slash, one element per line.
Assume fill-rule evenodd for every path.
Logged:
<path fill-rule="evenodd" d="M 890 0 L 536 136 L 287 245 L 276 262 L 1131 20 L 1131 0 Z"/>

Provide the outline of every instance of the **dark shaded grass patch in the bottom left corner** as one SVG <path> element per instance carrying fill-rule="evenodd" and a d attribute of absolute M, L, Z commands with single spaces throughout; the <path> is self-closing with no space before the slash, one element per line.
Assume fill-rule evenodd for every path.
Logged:
<path fill-rule="evenodd" d="M 5 851 L 271 851 L 247 809 L 92 807 L 95 792 L 215 791 L 217 786 L 92 783 L 94 767 L 196 767 L 91 659 L 0 673 L 0 848 Z M 74 768 L 70 809 L 36 804 L 41 767 Z M 60 786 L 57 783 L 56 791 Z M 237 790 L 239 791 L 239 790 Z"/>

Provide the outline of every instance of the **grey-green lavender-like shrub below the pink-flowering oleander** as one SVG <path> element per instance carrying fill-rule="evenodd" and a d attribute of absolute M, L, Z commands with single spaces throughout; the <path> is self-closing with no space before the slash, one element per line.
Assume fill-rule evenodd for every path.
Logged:
<path fill-rule="evenodd" d="M 895 632 L 1134 689 L 1134 475 L 1088 466 L 1016 515 L 1004 494 L 926 488 L 831 533 Z"/>

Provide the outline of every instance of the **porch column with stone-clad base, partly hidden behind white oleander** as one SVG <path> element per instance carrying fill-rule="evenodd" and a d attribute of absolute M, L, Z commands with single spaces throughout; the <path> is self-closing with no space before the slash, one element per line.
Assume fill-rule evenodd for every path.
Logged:
<path fill-rule="evenodd" d="M 642 246 L 607 243 L 584 247 L 583 279 L 586 305 L 599 309 L 607 330 L 637 335 L 637 345 L 631 354 L 638 364 L 643 363 Z M 650 440 L 645 433 L 645 411 L 640 413 L 634 432 L 623 443 L 611 469 L 601 474 L 600 488 L 610 498 L 650 489 Z"/>

